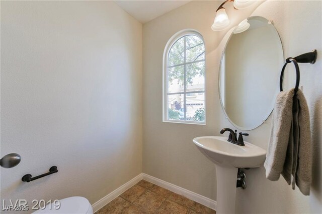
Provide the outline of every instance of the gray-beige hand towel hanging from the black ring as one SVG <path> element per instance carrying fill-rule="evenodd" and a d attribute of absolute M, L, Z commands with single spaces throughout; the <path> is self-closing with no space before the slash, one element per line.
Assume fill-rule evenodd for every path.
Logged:
<path fill-rule="evenodd" d="M 277 96 L 264 167 L 268 179 L 278 180 L 282 174 L 293 189 L 296 183 L 308 195 L 312 169 L 309 112 L 302 91 L 294 99 L 293 95 L 291 89 Z"/>

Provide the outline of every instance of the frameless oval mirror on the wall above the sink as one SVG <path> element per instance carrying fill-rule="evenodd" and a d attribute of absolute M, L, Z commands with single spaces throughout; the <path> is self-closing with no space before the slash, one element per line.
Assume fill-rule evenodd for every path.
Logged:
<path fill-rule="evenodd" d="M 281 39 L 272 22 L 250 17 L 232 31 L 219 68 L 219 97 L 240 130 L 260 126 L 271 114 L 283 66 Z"/>

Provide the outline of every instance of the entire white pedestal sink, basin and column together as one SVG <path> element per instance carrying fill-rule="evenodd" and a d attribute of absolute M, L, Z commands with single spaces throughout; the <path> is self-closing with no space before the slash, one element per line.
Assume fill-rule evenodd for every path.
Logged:
<path fill-rule="evenodd" d="M 236 179 L 238 168 L 260 167 L 266 150 L 251 143 L 238 146 L 227 137 L 196 137 L 193 142 L 216 164 L 217 214 L 235 213 Z"/>

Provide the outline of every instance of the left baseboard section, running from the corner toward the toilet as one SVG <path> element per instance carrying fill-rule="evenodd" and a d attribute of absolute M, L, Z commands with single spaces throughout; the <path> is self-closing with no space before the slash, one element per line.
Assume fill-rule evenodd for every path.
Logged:
<path fill-rule="evenodd" d="M 120 194 L 122 194 L 123 192 L 131 188 L 134 184 L 136 184 L 142 179 L 143 179 L 143 174 L 141 173 L 136 177 L 134 177 L 133 179 L 131 179 L 130 181 L 128 181 L 127 183 L 123 184 L 122 186 L 112 191 L 110 194 L 106 195 L 105 197 L 101 198 L 97 202 L 93 203 L 92 204 L 93 213 L 98 211 L 100 208 L 102 208 L 112 200 L 114 200 L 117 196 L 119 196 Z"/>

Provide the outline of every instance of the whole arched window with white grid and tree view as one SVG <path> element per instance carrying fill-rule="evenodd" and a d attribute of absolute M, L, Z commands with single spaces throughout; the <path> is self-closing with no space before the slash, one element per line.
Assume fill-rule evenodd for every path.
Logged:
<path fill-rule="evenodd" d="M 196 31 L 182 31 L 164 53 L 164 122 L 205 124 L 205 45 Z"/>

